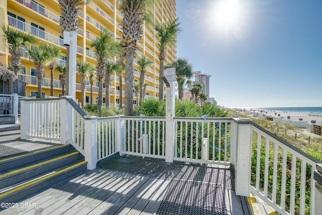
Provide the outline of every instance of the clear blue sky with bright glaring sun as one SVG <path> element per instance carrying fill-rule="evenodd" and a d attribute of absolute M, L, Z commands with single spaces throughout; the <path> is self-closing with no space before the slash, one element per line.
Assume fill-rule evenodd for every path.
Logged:
<path fill-rule="evenodd" d="M 225 107 L 322 107 L 322 1 L 177 0 L 177 56 Z M 231 8 L 231 9 L 229 9 Z"/>

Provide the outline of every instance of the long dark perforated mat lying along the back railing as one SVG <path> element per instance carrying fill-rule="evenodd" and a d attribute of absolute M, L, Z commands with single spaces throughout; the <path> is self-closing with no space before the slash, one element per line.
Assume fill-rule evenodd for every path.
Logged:
<path fill-rule="evenodd" d="M 221 184 L 225 189 L 233 189 L 230 169 L 167 163 L 160 160 L 141 159 L 130 156 L 112 156 L 98 163 L 102 169 L 147 175 L 162 179 L 182 179 Z"/>

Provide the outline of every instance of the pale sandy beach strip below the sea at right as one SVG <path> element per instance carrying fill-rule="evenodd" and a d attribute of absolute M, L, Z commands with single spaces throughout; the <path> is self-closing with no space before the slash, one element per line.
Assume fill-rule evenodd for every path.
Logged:
<path fill-rule="evenodd" d="M 243 111 L 244 114 L 248 114 L 252 116 L 253 113 L 258 113 L 259 115 L 266 115 L 266 116 L 272 116 L 272 117 L 279 117 L 278 114 L 280 114 L 280 117 L 287 118 L 288 116 L 291 117 L 291 119 L 298 120 L 299 118 L 303 119 L 303 121 L 307 121 L 310 123 L 312 120 L 315 120 L 316 124 L 322 124 L 322 116 L 321 115 L 309 115 L 307 113 L 298 113 L 298 112 L 283 112 L 283 111 Z"/>

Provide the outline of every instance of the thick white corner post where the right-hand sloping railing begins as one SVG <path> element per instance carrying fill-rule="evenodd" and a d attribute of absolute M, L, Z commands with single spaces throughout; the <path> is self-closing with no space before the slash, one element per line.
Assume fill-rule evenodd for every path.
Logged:
<path fill-rule="evenodd" d="M 252 126 L 249 118 L 231 119 L 231 164 L 235 176 L 235 193 L 250 196 Z"/>

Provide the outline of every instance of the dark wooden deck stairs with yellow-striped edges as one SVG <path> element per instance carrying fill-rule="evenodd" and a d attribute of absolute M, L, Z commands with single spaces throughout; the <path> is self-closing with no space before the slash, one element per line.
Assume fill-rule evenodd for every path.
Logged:
<path fill-rule="evenodd" d="M 18 202 L 82 173 L 86 164 L 84 156 L 70 145 L 0 160 L 0 202 Z"/>

